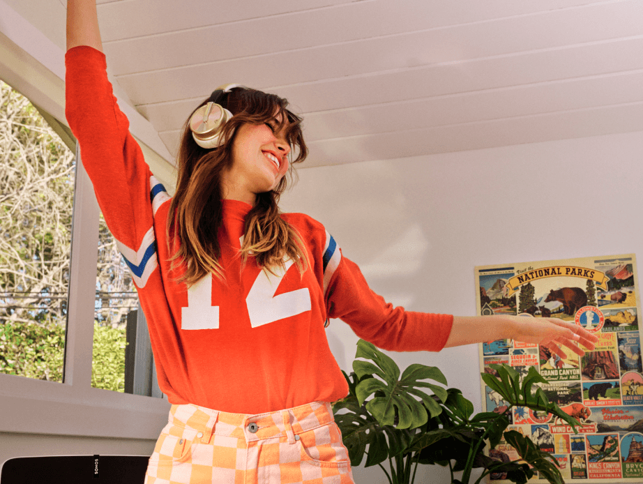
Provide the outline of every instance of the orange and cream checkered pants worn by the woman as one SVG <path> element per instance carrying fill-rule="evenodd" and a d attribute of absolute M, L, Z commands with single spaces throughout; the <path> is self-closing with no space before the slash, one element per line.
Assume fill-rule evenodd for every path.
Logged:
<path fill-rule="evenodd" d="M 268 414 L 172 405 L 144 484 L 354 484 L 331 404 Z"/>

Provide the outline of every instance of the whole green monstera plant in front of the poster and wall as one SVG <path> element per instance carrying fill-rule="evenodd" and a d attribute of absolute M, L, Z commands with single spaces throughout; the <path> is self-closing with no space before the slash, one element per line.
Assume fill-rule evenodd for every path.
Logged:
<path fill-rule="evenodd" d="M 457 388 L 446 388 L 438 368 L 414 364 L 400 375 L 391 358 L 364 340 L 357 344 L 356 358 L 363 359 L 353 362 L 351 375 L 344 374 L 349 395 L 333 407 L 352 465 L 366 455 L 365 467 L 379 465 L 391 484 L 413 483 L 418 464 L 448 466 L 453 484 L 468 484 L 474 467 L 482 468 L 476 484 L 488 474 L 522 484 L 536 471 L 550 483 L 563 483 L 556 460 L 528 437 L 506 430 L 516 406 L 554 414 L 573 428 L 580 425 L 534 385 L 547 383 L 535 368 L 521 381 L 509 365 L 491 365 L 498 377 L 483 373 L 483 380 L 508 402 L 507 408 L 474 415 L 474 405 Z M 503 440 L 520 459 L 503 462 L 493 452 L 485 455 L 485 448 Z"/>

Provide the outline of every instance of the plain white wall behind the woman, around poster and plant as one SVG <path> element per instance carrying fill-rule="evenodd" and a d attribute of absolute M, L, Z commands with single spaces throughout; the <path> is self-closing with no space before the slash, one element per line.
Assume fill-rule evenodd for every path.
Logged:
<path fill-rule="evenodd" d="M 408 310 L 475 315 L 474 266 L 643 257 L 643 133 L 298 173 L 282 209 L 323 223 L 372 289 Z M 328 338 L 342 369 L 351 371 L 354 333 L 337 320 Z M 388 354 L 400 368 L 438 366 L 481 411 L 477 345 Z M 443 471 L 418 471 L 417 482 L 439 482 L 436 470 Z M 356 469 L 358 481 L 384 481 L 381 469 L 368 471 Z"/>

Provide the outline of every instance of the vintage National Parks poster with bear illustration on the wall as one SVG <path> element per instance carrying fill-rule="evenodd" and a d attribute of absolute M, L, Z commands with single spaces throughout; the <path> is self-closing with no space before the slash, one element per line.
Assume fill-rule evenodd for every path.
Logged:
<path fill-rule="evenodd" d="M 638 482 L 643 478 L 637 281 L 633 254 L 476 267 L 479 315 L 556 317 L 575 322 L 599 338 L 596 348 L 582 357 L 566 351 L 566 357 L 560 358 L 545 347 L 513 340 L 480 345 L 484 372 L 493 372 L 492 363 L 507 363 L 523 375 L 535 367 L 549 381 L 541 387 L 550 401 L 582 423 L 574 433 L 549 414 L 524 407 L 513 408 L 510 414 L 508 430 L 528 435 L 551 453 L 566 481 Z M 482 401 L 485 411 L 506 410 L 506 402 L 484 382 Z M 493 452 L 512 460 L 517 457 L 505 442 Z M 532 481 L 538 481 L 537 476 Z"/>

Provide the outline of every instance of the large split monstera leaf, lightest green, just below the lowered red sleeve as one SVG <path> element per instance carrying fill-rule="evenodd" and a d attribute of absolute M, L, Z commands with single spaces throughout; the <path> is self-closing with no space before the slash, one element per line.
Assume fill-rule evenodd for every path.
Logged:
<path fill-rule="evenodd" d="M 375 397 L 366 402 L 366 409 L 380 425 L 414 429 L 424 425 L 429 414 L 434 417 L 442 411 L 431 395 L 419 389 L 430 388 L 439 400 L 446 400 L 445 388 L 421 381 L 432 379 L 446 385 L 446 378 L 438 368 L 420 364 L 410 365 L 400 378 L 400 368 L 395 361 L 364 340 L 359 340 L 357 344 L 356 358 L 366 358 L 374 362 L 356 360 L 353 362 L 353 370 L 360 379 L 356 386 L 358 403 L 361 406 L 375 393 Z M 380 379 L 362 379 L 366 375 L 377 375 Z"/>

